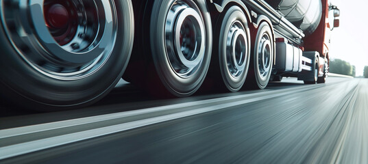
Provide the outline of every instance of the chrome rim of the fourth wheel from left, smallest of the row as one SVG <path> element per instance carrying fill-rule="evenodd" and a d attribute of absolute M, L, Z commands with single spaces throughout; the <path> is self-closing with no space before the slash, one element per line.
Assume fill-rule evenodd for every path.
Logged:
<path fill-rule="evenodd" d="M 261 79 L 266 79 L 271 71 L 272 45 L 268 33 L 263 33 L 258 44 L 258 71 Z"/>

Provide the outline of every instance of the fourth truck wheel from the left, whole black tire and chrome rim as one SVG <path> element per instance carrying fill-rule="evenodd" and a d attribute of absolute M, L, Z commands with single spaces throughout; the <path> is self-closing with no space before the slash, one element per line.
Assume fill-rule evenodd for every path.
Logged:
<path fill-rule="evenodd" d="M 251 55 L 249 66 L 249 78 L 245 85 L 247 87 L 265 89 L 271 77 L 274 42 L 273 31 L 269 23 L 263 21 L 258 26 L 254 49 Z"/>

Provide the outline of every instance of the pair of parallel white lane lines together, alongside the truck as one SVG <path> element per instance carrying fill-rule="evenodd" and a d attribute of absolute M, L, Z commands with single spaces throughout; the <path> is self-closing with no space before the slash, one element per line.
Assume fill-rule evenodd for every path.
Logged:
<path fill-rule="evenodd" d="M 305 90 L 305 89 L 304 89 Z M 5 158 L 9 158 L 12 156 L 17 156 L 17 155 L 21 155 L 21 154 L 25 154 L 25 153 L 29 153 L 29 152 L 34 152 L 37 150 L 42 150 L 42 149 L 46 149 L 46 148 L 52 148 L 55 146 L 61 146 L 67 143 L 72 143 L 72 142 L 76 142 L 76 141 L 81 141 L 84 139 L 90 139 L 93 137 L 100 137 L 102 135 L 109 135 L 112 133 L 118 133 L 121 131 L 127 131 L 130 130 L 132 128 L 139 128 L 142 126 L 147 126 L 150 124 L 157 124 L 159 122 L 166 122 L 169 120 L 175 120 L 177 118 L 184 118 L 184 117 L 188 117 L 190 115 L 197 115 L 200 113 L 206 113 L 209 111 L 216 111 L 219 109 L 225 109 L 228 107 L 234 107 L 236 105 L 244 105 L 246 103 L 249 102 L 255 102 L 258 100 L 265 100 L 267 98 L 273 98 L 276 96 L 284 96 L 285 94 L 291 94 L 293 92 L 302 92 L 300 90 L 294 90 L 292 92 L 284 92 L 281 94 L 272 94 L 272 95 L 268 95 L 268 96 L 262 96 L 260 98 L 250 98 L 249 100 L 237 100 L 236 98 L 245 98 L 246 96 L 232 96 L 229 98 L 216 98 L 214 100 L 203 100 L 203 101 L 199 101 L 199 102 L 212 102 L 212 106 L 209 107 L 200 107 L 198 109 L 193 109 L 193 110 L 187 110 L 187 111 L 183 111 L 180 113 L 173 113 L 173 114 L 169 114 L 169 115 L 161 115 L 155 118 L 147 118 L 144 120 L 138 120 L 138 121 L 132 121 L 132 122 L 125 122 L 123 124 L 116 124 L 116 125 L 112 125 L 112 126 L 106 126 L 103 128 L 95 128 L 95 129 L 91 129 L 89 131 L 82 131 L 79 133 L 71 133 L 69 135 L 61 135 L 57 136 L 57 137 L 49 137 L 46 139 L 34 139 L 34 141 L 28 141 L 25 143 L 18 143 L 18 144 L 14 144 L 11 146 L 4 146 L 3 148 L 0 148 L 0 159 L 5 159 Z M 253 96 L 257 96 L 258 94 L 252 94 Z M 220 105 L 214 105 L 214 102 L 216 102 L 215 100 L 217 100 L 218 102 L 224 101 L 224 100 L 228 100 L 228 101 L 234 101 L 234 102 L 228 102 L 228 103 L 221 103 Z M 193 104 L 199 104 L 197 102 L 193 102 Z M 65 127 L 68 127 L 65 123 L 68 122 L 75 122 L 74 125 L 69 125 L 70 126 L 78 126 L 79 124 L 91 124 L 91 123 L 95 123 L 95 122 L 103 122 L 103 121 L 111 121 L 114 119 L 119 119 L 119 115 L 121 115 L 121 118 L 127 118 L 127 116 L 129 115 L 134 115 L 133 113 L 135 113 L 135 115 L 137 115 L 137 113 L 147 113 L 147 111 L 163 111 L 163 110 L 167 110 L 168 107 L 174 108 L 175 106 L 179 106 L 179 107 L 191 107 L 191 108 L 195 108 L 195 106 L 191 105 L 189 106 L 188 103 L 183 103 L 180 105 L 169 105 L 169 106 L 164 106 L 164 107 L 156 107 L 153 109 L 145 109 L 143 111 L 145 112 L 125 112 L 125 113 L 129 113 L 124 115 L 125 113 L 116 113 L 116 115 L 118 117 L 112 117 L 114 115 L 101 115 L 101 118 L 107 118 L 107 119 L 102 119 L 102 120 L 97 120 L 96 116 L 95 117 L 91 117 L 91 118 L 85 118 L 85 119 L 79 119 L 79 120 L 69 120 L 69 121 L 65 121 L 65 122 L 55 122 L 55 125 L 60 124 L 59 127 L 52 127 L 52 124 L 40 124 L 40 125 L 36 125 L 36 126 L 25 126 L 23 128 L 13 128 L 15 131 L 12 131 L 13 129 L 8 129 L 8 130 L 3 130 L 0 131 L 0 138 L 7 138 L 7 137 L 13 137 L 13 136 L 21 136 L 21 135 L 26 135 L 29 133 L 39 133 L 41 131 L 51 131 L 51 130 L 55 130 L 55 129 L 62 129 Z M 110 116 L 110 118 L 109 118 Z M 80 120 L 83 120 L 84 122 L 81 122 Z M 81 123 L 77 123 L 77 122 L 81 122 Z M 51 125 L 51 127 L 49 127 Z M 40 130 L 37 128 L 45 128 L 45 130 Z M 82 129 L 82 128 L 79 128 Z M 26 133 L 25 133 L 26 131 Z M 14 134 L 18 132 L 18 134 Z M 8 135 L 7 135 L 8 133 Z M 13 133 L 13 135 L 9 135 L 9 133 Z M 3 135 L 4 134 L 4 135 Z M 9 141 L 9 140 L 14 140 L 12 138 L 10 139 L 4 139 L 3 141 Z M 11 141 L 9 141 L 11 142 Z M 0 146 L 3 146 L 3 144 L 0 144 Z"/>

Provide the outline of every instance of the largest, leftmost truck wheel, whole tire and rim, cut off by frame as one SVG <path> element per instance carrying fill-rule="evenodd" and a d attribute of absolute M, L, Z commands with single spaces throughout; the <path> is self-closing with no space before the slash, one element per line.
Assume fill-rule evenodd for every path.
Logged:
<path fill-rule="evenodd" d="M 119 81 L 132 51 L 132 2 L 1 1 L 1 96 L 29 109 L 83 107 Z"/>

